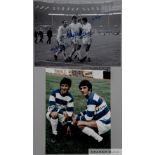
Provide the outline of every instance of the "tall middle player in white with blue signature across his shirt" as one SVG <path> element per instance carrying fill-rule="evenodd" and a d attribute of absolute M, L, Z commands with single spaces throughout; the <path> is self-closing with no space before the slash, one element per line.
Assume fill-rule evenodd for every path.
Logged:
<path fill-rule="evenodd" d="M 78 57 L 81 59 L 80 49 L 81 49 L 81 34 L 82 34 L 82 24 L 77 22 L 77 17 L 72 17 L 72 23 L 69 25 L 70 29 L 70 38 L 73 45 L 73 50 L 68 57 L 68 61 L 72 61 L 73 55 L 74 58 Z"/>

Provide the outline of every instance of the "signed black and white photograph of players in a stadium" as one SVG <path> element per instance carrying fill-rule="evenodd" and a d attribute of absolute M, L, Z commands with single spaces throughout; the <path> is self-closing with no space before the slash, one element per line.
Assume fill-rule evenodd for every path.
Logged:
<path fill-rule="evenodd" d="M 121 0 L 34 0 L 34 66 L 121 66 Z"/>

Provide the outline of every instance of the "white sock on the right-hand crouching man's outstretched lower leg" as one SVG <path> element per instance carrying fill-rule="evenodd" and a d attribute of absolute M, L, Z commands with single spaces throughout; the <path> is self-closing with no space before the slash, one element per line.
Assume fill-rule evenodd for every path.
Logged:
<path fill-rule="evenodd" d="M 89 127 L 84 127 L 82 129 L 82 132 L 85 133 L 88 136 L 93 137 L 98 142 L 101 142 L 103 140 L 103 137 L 101 137 L 100 135 L 98 135 L 93 129 L 91 129 Z"/>

